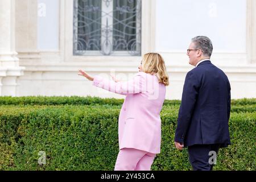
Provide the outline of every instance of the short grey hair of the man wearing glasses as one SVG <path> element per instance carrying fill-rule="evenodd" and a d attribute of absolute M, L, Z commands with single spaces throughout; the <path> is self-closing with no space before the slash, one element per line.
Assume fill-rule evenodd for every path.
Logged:
<path fill-rule="evenodd" d="M 196 36 L 191 39 L 191 42 L 195 44 L 195 49 L 201 49 L 204 56 L 212 55 L 212 41 L 207 36 Z"/>

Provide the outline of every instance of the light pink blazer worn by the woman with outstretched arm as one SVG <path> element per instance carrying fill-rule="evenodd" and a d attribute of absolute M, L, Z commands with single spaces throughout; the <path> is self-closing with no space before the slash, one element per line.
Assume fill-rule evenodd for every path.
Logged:
<path fill-rule="evenodd" d="M 166 86 L 155 75 L 138 72 L 126 82 L 96 76 L 93 85 L 110 92 L 125 94 L 118 119 L 119 149 L 136 148 L 160 153 L 160 111 L 166 96 Z"/>

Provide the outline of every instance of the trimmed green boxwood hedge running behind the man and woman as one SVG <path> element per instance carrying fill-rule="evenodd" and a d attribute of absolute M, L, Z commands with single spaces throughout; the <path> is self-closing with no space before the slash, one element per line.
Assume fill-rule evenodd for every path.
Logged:
<path fill-rule="evenodd" d="M 255 170 L 255 99 L 232 100 L 232 145 L 215 170 Z M 0 170 L 113 170 L 123 100 L 93 97 L 0 97 Z M 180 101 L 161 112 L 162 146 L 152 170 L 191 170 L 187 149 L 174 146 Z M 46 164 L 39 165 L 39 151 Z"/>

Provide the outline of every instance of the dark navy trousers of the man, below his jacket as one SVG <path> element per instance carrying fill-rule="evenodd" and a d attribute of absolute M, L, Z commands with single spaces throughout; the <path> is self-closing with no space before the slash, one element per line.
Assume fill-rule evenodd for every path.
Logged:
<path fill-rule="evenodd" d="M 219 148 L 220 144 L 195 144 L 193 146 L 188 146 L 189 162 L 191 163 L 193 170 L 212 171 L 213 151 L 217 154 Z"/>

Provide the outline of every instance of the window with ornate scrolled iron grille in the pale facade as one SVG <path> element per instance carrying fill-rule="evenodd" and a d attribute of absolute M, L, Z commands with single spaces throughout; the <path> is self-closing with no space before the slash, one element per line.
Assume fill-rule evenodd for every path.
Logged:
<path fill-rule="evenodd" d="M 141 55 L 141 0 L 74 0 L 74 55 Z"/>

